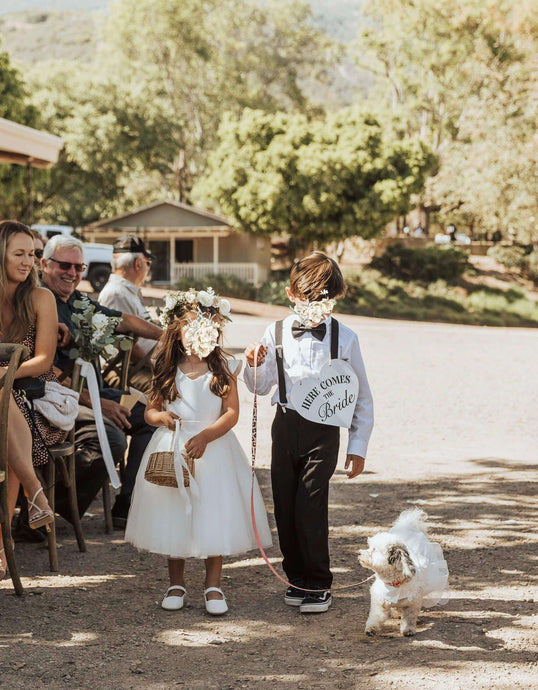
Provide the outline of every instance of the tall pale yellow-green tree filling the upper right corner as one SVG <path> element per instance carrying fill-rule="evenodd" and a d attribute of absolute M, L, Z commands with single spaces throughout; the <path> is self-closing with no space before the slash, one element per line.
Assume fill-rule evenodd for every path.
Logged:
<path fill-rule="evenodd" d="M 377 76 L 373 99 L 438 157 L 425 210 L 483 231 L 528 227 L 538 217 L 535 0 L 368 0 L 364 11 L 357 60 Z"/>

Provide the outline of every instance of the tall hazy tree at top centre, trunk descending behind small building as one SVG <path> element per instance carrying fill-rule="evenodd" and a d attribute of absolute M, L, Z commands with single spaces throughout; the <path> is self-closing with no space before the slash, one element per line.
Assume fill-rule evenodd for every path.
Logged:
<path fill-rule="evenodd" d="M 323 77 L 330 43 L 297 0 L 119 0 L 101 55 L 116 78 L 133 79 L 171 123 L 163 181 L 189 200 L 224 111 L 304 109 L 302 75 Z"/>

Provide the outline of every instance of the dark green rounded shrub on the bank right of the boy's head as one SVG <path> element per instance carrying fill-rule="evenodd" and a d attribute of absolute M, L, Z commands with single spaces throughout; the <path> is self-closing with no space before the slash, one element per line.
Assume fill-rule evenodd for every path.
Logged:
<path fill-rule="evenodd" d="M 400 280 L 433 283 L 446 280 L 455 283 L 469 267 L 467 254 L 455 247 L 404 247 L 393 244 L 382 256 L 374 257 L 370 266 Z"/>

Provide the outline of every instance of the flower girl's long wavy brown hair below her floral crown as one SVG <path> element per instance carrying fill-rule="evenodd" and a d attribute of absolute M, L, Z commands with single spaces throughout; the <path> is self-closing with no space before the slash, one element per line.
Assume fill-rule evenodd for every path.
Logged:
<path fill-rule="evenodd" d="M 202 313 L 218 317 L 218 311 L 213 307 L 198 305 Z M 186 352 L 181 341 L 181 327 L 185 323 L 186 314 L 192 311 L 192 306 L 178 304 L 174 308 L 174 320 L 167 326 L 157 345 L 154 360 L 153 378 L 149 393 L 149 403 L 160 407 L 165 402 L 173 402 L 179 397 L 176 386 L 178 365 L 185 359 Z M 221 337 L 219 337 L 219 340 Z M 209 371 L 212 372 L 209 388 L 219 398 L 225 398 L 230 391 L 232 374 L 228 367 L 228 359 L 221 347 L 216 347 L 206 358 Z"/>

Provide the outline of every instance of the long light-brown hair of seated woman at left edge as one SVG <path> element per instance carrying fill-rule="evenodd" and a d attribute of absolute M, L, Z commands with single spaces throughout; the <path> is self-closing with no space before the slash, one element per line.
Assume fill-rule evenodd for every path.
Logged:
<path fill-rule="evenodd" d="M 32 292 L 38 285 L 37 271 L 32 268 L 28 277 L 23 283 L 19 283 L 13 295 L 14 319 L 10 326 L 5 329 L 2 323 L 1 307 L 8 300 L 7 297 L 7 276 L 6 276 L 6 253 L 9 241 L 14 235 L 28 235 L 32 242 L 34 237 L 32 231 L 24 223 L 16 220 L 4 220 L 0 222 L 0 333 L 5 343 L 18 343 L 30 330 L 35 321 L 34 307 L 32 304 Z"/>

